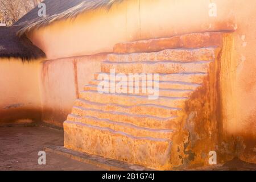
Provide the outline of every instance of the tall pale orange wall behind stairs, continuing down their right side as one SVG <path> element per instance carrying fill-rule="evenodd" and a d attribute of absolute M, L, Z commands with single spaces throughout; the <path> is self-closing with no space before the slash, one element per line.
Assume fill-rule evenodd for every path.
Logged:
<path fill-rule="evenodd" d="M 217 4 L 210 17 L 209 3 Z M 256 12 L 254 0 L 134 0 L 60 21 L 30 34 L 49 59 L 111 52 L 114 44 L 190 32 L 234 31 L 232 56 L 222 75 L 222 125 L 239 140 L 241 159 L 256 162 Z M 106 36 L 107 35 L 107 36 Z"/>

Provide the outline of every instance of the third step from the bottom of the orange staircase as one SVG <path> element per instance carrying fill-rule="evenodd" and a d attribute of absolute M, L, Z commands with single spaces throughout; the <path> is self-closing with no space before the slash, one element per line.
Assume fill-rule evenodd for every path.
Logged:
<path fill-rule="evenodd" d="M 117 111 L 103 111 L 98 109 L 86 109 L 73 106 L 72 114 L 79 116 L 90 116 L 99 119 L 110 119 L 115 122 L 130 123 L 135 126 L 149 129 L 172 129 L 175 128 L 178 117 L 169 118 L 152 117 L 151 115 L 138 115 L 130 113 L 119 113 Z"/>

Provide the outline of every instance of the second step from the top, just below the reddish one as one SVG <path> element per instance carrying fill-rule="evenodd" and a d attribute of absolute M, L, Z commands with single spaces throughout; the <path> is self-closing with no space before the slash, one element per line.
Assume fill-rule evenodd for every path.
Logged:
<path fill-rule="evenodd" d="M 159 52 L 139 52 L 129 54 L 110 53 L 108 61 L 141 62 L 141 61 L 211 61 L 214 60 L 215 48 L 199 49 L 164 49 Z"/>

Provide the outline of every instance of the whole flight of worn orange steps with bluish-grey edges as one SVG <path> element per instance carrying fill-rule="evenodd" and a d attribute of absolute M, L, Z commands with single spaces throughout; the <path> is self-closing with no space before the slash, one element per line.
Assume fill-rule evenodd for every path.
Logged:
<path fill-rule="evenodd" d="M 193 109 L 189 103 L 201 97 L 200 90 L 208 90 L 220 36 L 201 33 L 117 44 L 102 62 L 101 73 L 84 86 L 64 122 L 65 147 L 152 169 L 170 169 L 176 160 L 172 158 L 175 136 Z M 110 75 L 113 69 L 125 75 L 159 73 L 158 99 L 149 100 L 141 92 L 99 93 L 102 80 L 98 76 Z M 204 98 L 199 100 L 208 103 Z"/>

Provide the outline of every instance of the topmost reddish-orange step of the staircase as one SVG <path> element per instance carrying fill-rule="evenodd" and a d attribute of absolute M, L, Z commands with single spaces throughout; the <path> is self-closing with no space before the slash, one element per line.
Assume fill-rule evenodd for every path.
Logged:
<path fill-rule="evenodd" d="M 221 46 L 223 32 L 199 32 L 187 35 L 138 40 L 135 42 L 118 43 L 114 53 L 157 52 L 172 48 L 203 48 Z"/>

